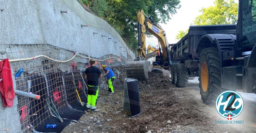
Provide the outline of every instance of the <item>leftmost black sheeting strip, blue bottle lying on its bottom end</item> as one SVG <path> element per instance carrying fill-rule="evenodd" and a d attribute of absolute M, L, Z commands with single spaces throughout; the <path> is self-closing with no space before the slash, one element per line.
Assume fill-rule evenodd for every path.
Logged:
<path fill-rule="evenodd" d="M 29 98 L 30 111 L 29 115 L 37 114 L 30 117 L 31 125 L 34 127 L 33 131 L 37 132 L 61 132 L 70 120 L 63 120 L 60 122 L 58 118 L 51 116 L 48 106 L 44 102 L 44 99 L 48 99 L 47 88 L 44 77 L 34 76 L 31 79 L 31 89 L 30 92 L 36 95 L 40 95 L 40 100 L 34 100 Z M 46 124 L 56 124 L 56 128 L 45 128 Z"/>

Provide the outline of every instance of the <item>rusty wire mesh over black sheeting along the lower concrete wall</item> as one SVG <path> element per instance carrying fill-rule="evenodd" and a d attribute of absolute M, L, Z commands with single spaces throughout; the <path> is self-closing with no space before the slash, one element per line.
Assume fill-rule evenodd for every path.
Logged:
<path fill-rule="evenodd" d="M 46 55 L 64 61 L 74 56 L 73 51 L 47 44 L 10 45 L 6 51 L 9 60 Z M 98 62 L 96 66 L 118 65 L 119 61 L 110 58 Z M 23 69 L 21 75 L 15 79 L 15 88 L 41 96 L 40 100 L 35 100 L 18 95 L 18 111 L 24 133 L 60 132 L 71 120 L 79 120 L 87 103 L 87 87 L 83 73 L 88 67 L 88 62 L 89 59 L 80 56 L 65 63 L 44 57 L 10 62 L 14 74 Z M 84 106 L 81 106 L 81 103 Z M 45 128 L 46 124 L 56 124 L 57 127 Z"/>

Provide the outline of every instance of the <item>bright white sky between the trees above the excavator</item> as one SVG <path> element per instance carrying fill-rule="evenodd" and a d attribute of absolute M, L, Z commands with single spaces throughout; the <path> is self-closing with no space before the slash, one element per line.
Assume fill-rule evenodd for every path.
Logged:
<path fill-rule="evenodd" d="M 196 16 L 200 15 L 203 7 L 214 6 L 214 0 L 180 0 L 180 9 L 177 9 L 177 13 L 174 14 L 166 24 L 159 24 L 162 26 L 166 33 L 167 41 L 169 44 L 176 43 L 175 40 L 178 31 L 185 31 L 193 23 Z M 235 0 L 238 3 L 238 0 Z M 150 16 L 150 14 L 148 14 Z M 155 37 L 146 39 L 146 45 L 155 47 L 158 41 Z"/>

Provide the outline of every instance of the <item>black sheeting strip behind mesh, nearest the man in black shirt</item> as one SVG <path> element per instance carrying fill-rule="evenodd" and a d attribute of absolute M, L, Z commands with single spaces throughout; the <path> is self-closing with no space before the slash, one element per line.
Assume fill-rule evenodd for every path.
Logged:
<path fill-rule="evenodd" d="M 77 110 L 86 110 L 86 103 L 87 103 L 87 96 L 85 95 L 84 91 L 84 81 L 80 75 L 80 72 L 70 72 L 63 75 L 64 78 L 64 84 L 65 84 L 65 90 L 67 93 L 67 101 L 71 107 L 77 109 Z M 72 82 L 74 80 L 76 88 L 74 83 Z M 81 83 L 82 87 L 79 89 L 79 83 Z M 78 91 L 78 94 L 80 96 L 81 101 L 84 103 L 84 106 L 81 106 L 81 103 L 77 97 L 76 89 Z"/>

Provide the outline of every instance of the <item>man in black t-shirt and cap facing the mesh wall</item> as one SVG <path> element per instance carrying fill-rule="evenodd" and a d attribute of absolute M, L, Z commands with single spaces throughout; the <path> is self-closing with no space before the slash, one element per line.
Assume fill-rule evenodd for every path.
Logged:
<path fill-rule="evenodd" d="M 102 78 L 101 70 L 95 66 L 95 60 L 90 59 L 90 67 L 85 70 L 84 78 L 88 81 L 87 112 L 99 112 L 96 108 L 99 93 L 99 77 Z"/>

